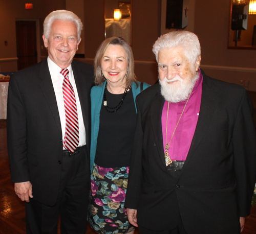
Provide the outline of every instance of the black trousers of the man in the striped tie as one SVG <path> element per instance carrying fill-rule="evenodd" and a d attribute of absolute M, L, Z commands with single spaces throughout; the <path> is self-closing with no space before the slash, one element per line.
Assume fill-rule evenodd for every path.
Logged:
<path fill-rule="evenodd" d="M 84 234 L 90 191 L 90 160 L 86 147 L 70 157 L 63 156 L 58 199 L 54 206 L 35 199 L 26 203 L 27 234 Z M 32 184 L 33 186 L 33 184 Z M 32 188 L 33 190 L 33 188 Z"/>

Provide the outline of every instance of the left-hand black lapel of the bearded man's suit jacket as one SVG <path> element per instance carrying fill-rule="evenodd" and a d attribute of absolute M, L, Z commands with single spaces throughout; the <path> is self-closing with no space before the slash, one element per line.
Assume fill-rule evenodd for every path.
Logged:
<path fill-rule="evenodd" d="M 164 99 L 159 92 L 154 98 L 151 106 L 151 125 L 153 128 L 154 136 L 160 160 L 165 167 L 164 150 L 163 150 L 163 134 L 162 134 L 162 111 Z"/>

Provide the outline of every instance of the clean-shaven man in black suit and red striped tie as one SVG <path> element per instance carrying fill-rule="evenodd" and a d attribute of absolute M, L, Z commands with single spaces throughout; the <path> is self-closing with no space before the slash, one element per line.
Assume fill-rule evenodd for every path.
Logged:
<path fill-rule="evenodd" d="M 48 58 L 10 78 L 7 141 L 11 179 L 26 201 L 27 233 L 84 234 L 90 190 L 93 66 L 73 60 L 81 20 L 58 10 L 44 21 Z"/>

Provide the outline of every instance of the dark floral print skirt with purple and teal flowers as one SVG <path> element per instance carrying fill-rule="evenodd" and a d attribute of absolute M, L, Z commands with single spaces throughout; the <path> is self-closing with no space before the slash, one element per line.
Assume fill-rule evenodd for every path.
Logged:
<path fill-rule="evenodd" d="M 129 233 L 135 229 L 124 208 L 129 167 L 102 168 L 94 163 L 88 221 L 98 233 Z"/>

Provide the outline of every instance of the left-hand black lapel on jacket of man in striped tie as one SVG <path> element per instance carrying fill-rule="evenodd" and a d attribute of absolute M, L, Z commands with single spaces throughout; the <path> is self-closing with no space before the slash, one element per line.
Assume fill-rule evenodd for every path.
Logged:
<path fill-rule="evenodd" d="M 39 83 L 39 86 L 44 93 L 44 96 L 46 98 L 46 101 L 48 102 L 48 105 L 52 111 L 54 120 L 58 126 L 58 129 L 62 135 L 61 132 L 61 124 L 60 124 L 60 119 L 59 119 L 59 111 L 58 111 L 58 106 L 56 102 L 56 96 L 52 84 L 52 79 L 47 63 L 47 59 L 42 61 L 40 71 L 39 71 L 39 77 L 41 78 L 41 82 Z"/>

